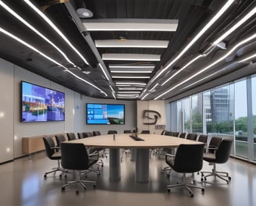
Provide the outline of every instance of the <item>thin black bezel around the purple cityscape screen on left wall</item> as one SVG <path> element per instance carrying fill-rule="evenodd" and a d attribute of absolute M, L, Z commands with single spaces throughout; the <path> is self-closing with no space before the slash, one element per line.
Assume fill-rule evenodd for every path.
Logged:
<path fill-rule="evenodd" d="M 60 93 L 60 94 L 62 94 L 63 95 L 63 98 L 64 98 L 64 108 L 63 108 L 63 115 L 64 115 L 64 117 L 63 117 L 63 119 L 57 119 L 57 120 L 42 120 L 42 121 L 40 121 L 40 120 L 37 120 L 37 121 L 24 121 L 23 120 L 23 83 L 28 83 L 28 84 L 31 84 L 31 85 L 33 85 L 33 86 L 36 86 L 36 87 L 41 87 L 41 88 L 43 88 L 43 89 L 46 89 L 46 90 L 49 90 L 49 91 L 53 91 L 53 92 L 58 92 L 58 93 Z M 66 95 L 65 95 L 65 93 L 64 92 L 62 92 L 62 91 L 57 91 L 57 90 L 54 90 L 54 89 L 52 89 L 52 88 L 49 88 L 49 87 L 44 87 L 44 86 L 41 86 L 41 85 L 39 85 L 39 84 L 36 84 L 36 83 L 30 83 L 30 82 L 27 82 L 27 81 L 21 81 L 20 82 L 20 122 L 21 123 L 51 123 L 51 122 L 64 122 L 65 121 L 65 119 L 66 119 L 66 115 L 65 115 L 65 106 L 66 106 Z"/>

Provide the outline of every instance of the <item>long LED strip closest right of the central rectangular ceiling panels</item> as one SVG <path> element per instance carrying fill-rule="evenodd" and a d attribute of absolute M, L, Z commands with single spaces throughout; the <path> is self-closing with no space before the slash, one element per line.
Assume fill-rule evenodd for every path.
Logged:
<path fill-rule="evenodd" d="M 204 32 L 206 30 L 208 30 L 209 27 L 212 26 L 213 23 L 215 23 L 216 20 L 219 19 L 220 16 L 222 16 L 222 14 L 224 12 L 226 12 L 226 9 L 229 8 L 229 6 L 234 2 L 234 0 L 229 0 L 228 2 L 226 2 L 225 5 L 222 6 L 222 9 L 219 10 L 219 12 L 217 12 L 217 14 L 212 18 L 212 20 L 210 20 L 206 25 L 205 27 L 190 41 L 189 44 L 187 44 L 187 46 L 183 49 L 182 52 L 180 52 L 179 55 L 176 56 L 175 59 L 172 60 L 172 62 L 169 62 L 169 64 L 167 66 L 165 66 L 164 69 L 162 69 L 156 76 L 154 76 L 151 80 L 151 82 L 155 81 L 158 76 L 160 76 L 162 73 L 165 72 L 166 69 L 169 69 L 169 67 L 174 64 L 178 59 L 180 59 L 180 57 L 185 53 L 187 52 L 187 50 L 201 37 L 201 35 L 204 34 Z"/>

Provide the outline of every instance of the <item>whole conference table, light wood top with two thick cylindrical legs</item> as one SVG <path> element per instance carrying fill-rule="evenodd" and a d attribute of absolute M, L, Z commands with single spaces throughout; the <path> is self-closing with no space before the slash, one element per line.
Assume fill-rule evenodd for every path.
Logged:
<path fill-rule="evenodd" d="M 100 135 L 84 139 L 72 140 L 74 143 L 83 143 L 86 147 L 109 148 L 109 179 L 119 181 L 121 179 L 120 149 L 136 149 L 136 173 L 135 180 L 138 183 L 149 181 L 149 158 L 150 149 L 175 148 L 180 144 L 203 144 L 194 140 L 187 140 L 180 137 L 171 137 L 160 134 L 137 134 L 142 140 L 133 140 L 131 133 Z"/>

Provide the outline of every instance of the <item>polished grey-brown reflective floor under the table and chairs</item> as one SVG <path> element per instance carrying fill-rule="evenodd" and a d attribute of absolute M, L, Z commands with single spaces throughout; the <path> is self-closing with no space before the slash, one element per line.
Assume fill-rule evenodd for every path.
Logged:
<path fill-rule="evenodd" d="M 0 165 L 0 205 L 22 206 L 72 206 L 72 205 L 219 205 L 219 206 L 253 206 L 256 205 L 256 165 L 241 162 L 230 158 L 229 162 L 217 165 L 217 169 L 229 172 L 231 182 L 226 184 L 219 179 L 208 179 L 208 183 L 201 183 L 201 176 L 195 174 L 196 184 L 204 186 L 201 190 L 192 189 L 194 197 L 189 197 L 183 188 L 166 190 L 166 184 L 180 182 L 181 175 L 171 172 L 167 177 L 161 173 L 165 167 L 164 157 L 152 155 L 150 160 L 149 183 L 136 183 L 134 181 L 135 162 L 130 161 L 130 154 L 124 154 L 121 163 L 121 180 L 110 182 L 108 180 L 108 158 L 104 158 L 105 165 L 101 168 L 100 176 L 91 172 L 88 179 L 97 182 L 96 188 L 87 184 L 87 190 L 80 188 L 76 194 L 76 187 L 61 191 L 62 184 L 73 178 L 59 178 L 50 174 L 44 179 L 44 172 L 55 167 L 56 162 L 46 158 L 44 152 L 16 159 Z M 212 167 L 204 162 L 203 170 Z M 192 178 L 191 175 L 187 176 Z"/>

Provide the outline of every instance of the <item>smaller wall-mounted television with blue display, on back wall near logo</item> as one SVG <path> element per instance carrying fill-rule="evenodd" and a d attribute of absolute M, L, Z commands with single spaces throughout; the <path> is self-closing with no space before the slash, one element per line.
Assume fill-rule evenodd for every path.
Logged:
<path fill-rule="evenodd" d="M 125 105 L 87 103 L 87 124 L 123 125 Z"/>

